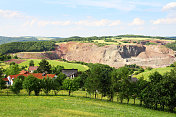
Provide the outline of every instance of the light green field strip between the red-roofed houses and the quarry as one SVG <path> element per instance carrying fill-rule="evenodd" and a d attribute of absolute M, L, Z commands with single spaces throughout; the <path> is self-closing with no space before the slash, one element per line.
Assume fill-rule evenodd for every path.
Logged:
<path fill-rule="evenodd" d="M 33 60 L 35 66 L 38 66 L 41 59 L 27 59 L 26 61 L 20 63 L 20 66 L 29 66 L 29 61 Z M 61 65 L 64 66 L 65 69 L 78 69 L 78 71 L 86 71 L 87 69 L 89 69 L 86 65 L 81 65 L 81 64 L 76 64 L 76 63 L 67 63 L 67 62 L 63 62 L 63 61 L 58 61 L 58 60 L 47 60 L 51 66 L 56 66 L 56 65 Z"/>

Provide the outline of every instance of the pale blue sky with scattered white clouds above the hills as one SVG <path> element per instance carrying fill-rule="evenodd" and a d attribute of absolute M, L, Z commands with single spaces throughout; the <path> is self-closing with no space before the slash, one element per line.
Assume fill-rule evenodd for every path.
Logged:
<path fill-rule="evenodd" d="M 0 0 L 1 36 L 176 36 L 174 0 Z"/>

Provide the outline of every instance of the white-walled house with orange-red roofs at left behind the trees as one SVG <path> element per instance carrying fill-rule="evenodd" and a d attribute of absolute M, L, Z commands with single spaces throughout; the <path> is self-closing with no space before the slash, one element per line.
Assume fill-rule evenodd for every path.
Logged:
<path fill-rule="evenodd" d="M 45 74 L 45 73 L 26 73 L 26 74 L 16 74 L 16 75 L 9 75 L 7 78 L 3 78 L 3 80 L 6 82 L 6 85 L 12 85 L 13 84 L 13 80 L 18 78 L 18 76 L 29 76 L 29 75 L 33 75 L 34 77 L 38 78 L 38 79 L 43 79 L 46 78 L 47 76 L 50 78 L 56 78 L 57 76 L 55 74 Z"/>

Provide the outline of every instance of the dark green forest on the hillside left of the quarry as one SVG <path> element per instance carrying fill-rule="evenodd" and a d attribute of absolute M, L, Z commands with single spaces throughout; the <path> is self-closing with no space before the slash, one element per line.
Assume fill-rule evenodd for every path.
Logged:
<path fill-rule="evenodd" d="M 37 42 L 13 42 L 0 45 L 0 53 L 16 53 L 16 52 L 42 52 L 55 49 L 53 41 L 37 41 Z"/>

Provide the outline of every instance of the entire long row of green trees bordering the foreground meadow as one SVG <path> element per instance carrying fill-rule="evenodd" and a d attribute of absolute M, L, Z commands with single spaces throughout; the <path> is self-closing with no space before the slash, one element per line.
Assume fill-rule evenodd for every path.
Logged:
<path fill-rule="evenodd" d="M 43 63 L 47 63 L 47 61 L 45 60 Z M 50 65 L 40 63 L 40 66 L 45 69 L 44 67 Z M 23 88 L 29 95 L 31 91 L 34 91 L 35 95 L 39 95 L 40 91 L 43 90 L 48 95 L 51 90 L 54 90 L 55 94 L 59 90 L 67 90 L 70 95 L 73 91 L 85 90 L 90 95 L 94 95 L 94 98 L 97 98 L 97 94 L 101 94 L 102 98 L 108 97 L 109 101 L 113 101 L 114 97 L 117 97 L 116 100 L 120 103 L 123 103 L 124 100 L 129 103 L 130 99 L 133 99 L 135 104 L 136 99 L 138 99 L 141 106 L 150 109 L 163 111 L 169 109 L 173 112 L 176 107 L 175 69 L 164 75 L 154 72 L 149 76 L 149 80 L 144 80 L 143 77 L 133 80 L 131 78 L 133 70 L 130 68 L 133 66 L 119 69 L 102 64 L 88 64 L 88 66 L 89 70 L 80 73 L 74 79 L 67 78 L 60 70 L 57 70 L 60 67 L 55 69 L 46 67 L 45 71 L 49 70 L 50 73 L 57 71 L 57 78 L 47 77 L 42 80 L 34 76 L 17 78 L 12 85 L 12 91 L 18 94 Z M 18 90 L 15 87 L 19 87 Z"/>

